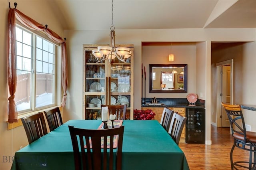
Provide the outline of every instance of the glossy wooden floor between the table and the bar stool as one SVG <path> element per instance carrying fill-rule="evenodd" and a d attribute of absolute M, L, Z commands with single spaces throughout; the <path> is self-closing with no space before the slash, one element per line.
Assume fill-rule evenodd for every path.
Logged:
<path fill-rule="evenodd" d="M 230 170 L 230 150 L 233 138 L 230 128 L 211 127 L 212 145 L 184 144 L 179 146 L 186 155 L 190 170 Z M 247 160 L 249 153 L 235 148 L 234 161 Z"/>

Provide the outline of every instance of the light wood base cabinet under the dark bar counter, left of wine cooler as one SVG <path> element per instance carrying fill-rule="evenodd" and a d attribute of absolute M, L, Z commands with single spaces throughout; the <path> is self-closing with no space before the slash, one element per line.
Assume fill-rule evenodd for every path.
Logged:
<path fill-rule="evenodd" d="M 169 109 L 173 110 L 174 112 L 177 112 L 178 114 L 182 115 L 183 117 L 186 117 L 186 108 L 185 107 L 168 107 Z M 154 117 L 154 120 L 157 120 L 159 123 L 161 121 L 161 117 L 164 111 L 164 107 L 142 107 L 142 110 L 151 109 L 154 111 L 156 116 Z M 185 135 L 186 132 L 186 125 L 184 126 L 182 130 L 182 134 L 180 136 L 180 143 L 185 142 Z"/>

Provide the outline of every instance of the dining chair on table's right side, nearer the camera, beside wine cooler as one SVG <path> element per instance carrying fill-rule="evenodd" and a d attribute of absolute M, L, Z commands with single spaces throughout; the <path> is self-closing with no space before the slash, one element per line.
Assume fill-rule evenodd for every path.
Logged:
<path fill-rule="evenodd" d="M 186 120 L 186 117 L 179 115 L 177 112 L 174 112 L 172 116 L 172 121 L 170 123 L 168 133 L 170 134 L 170 136 L 172 137 L 174 142 L 176 142 L 177 145 L 179 145 L 180 136 L 186 123 Z"/>

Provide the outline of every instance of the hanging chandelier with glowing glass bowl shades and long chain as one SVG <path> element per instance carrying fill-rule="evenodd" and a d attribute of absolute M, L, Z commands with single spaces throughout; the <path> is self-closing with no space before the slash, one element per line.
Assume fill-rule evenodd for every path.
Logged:
<path fill-rule="evenodd" d="M 97 58 L 97 63 L 109 59 L 118 58 L 122 63 L 132 56 L 132 51 L 128 47 L 116 47 L 115 43 L 115 26 L 113 22 L 113 0 L 112 0 L 112 25 L 110 27 L 110 46 L 98 46 L 92 50 L 92 54 Z"/>

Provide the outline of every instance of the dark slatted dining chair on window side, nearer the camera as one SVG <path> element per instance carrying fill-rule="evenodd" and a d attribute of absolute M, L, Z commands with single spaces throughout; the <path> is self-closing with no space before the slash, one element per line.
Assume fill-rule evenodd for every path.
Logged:
<path fill-rule="evenodd" d="M 29 144 L 47 134 L 46 123 L 42 112 L 21 118 L 21 121 Z"/>

